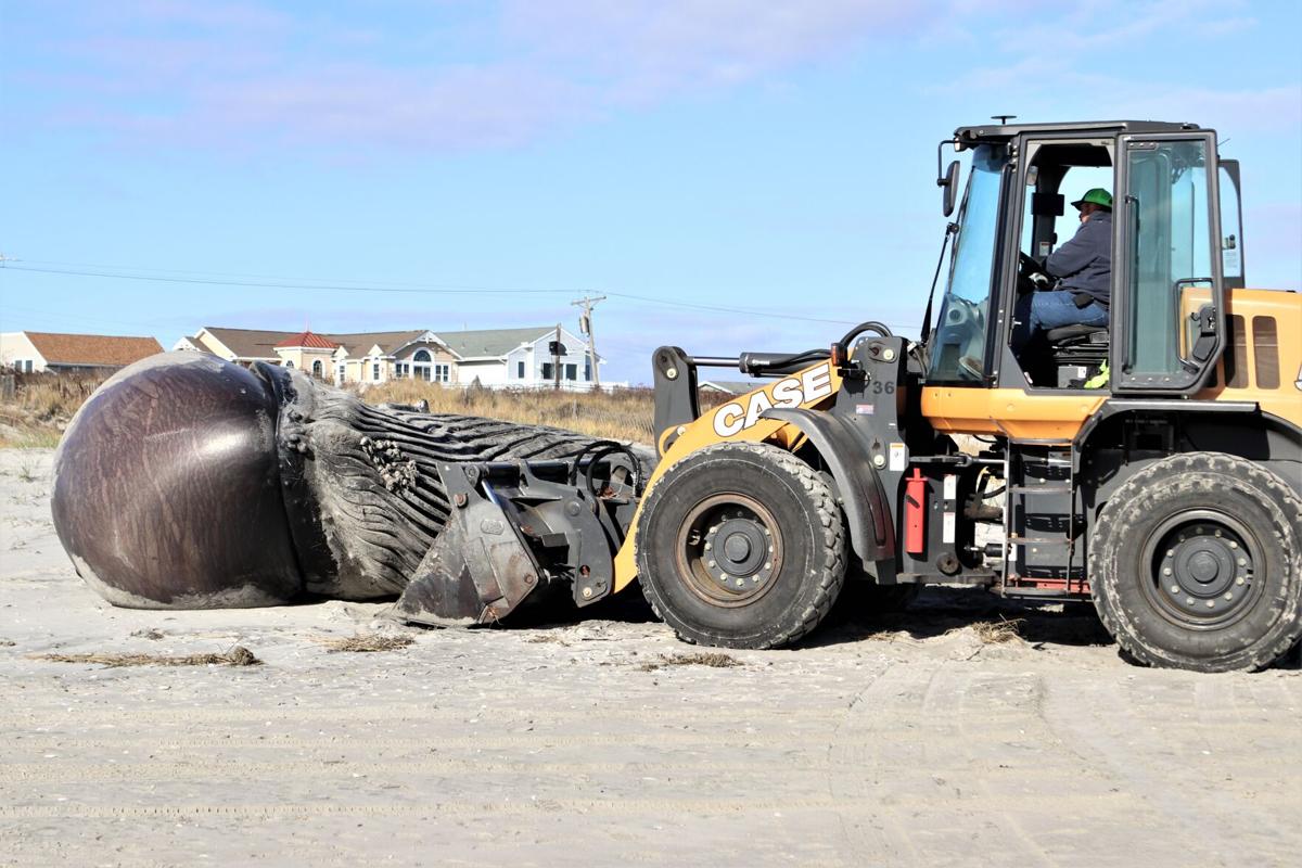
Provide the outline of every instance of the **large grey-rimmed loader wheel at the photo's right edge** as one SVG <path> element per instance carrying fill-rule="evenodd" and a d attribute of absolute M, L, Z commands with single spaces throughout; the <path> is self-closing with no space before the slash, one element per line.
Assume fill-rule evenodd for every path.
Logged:
<path fill-rule="evenodd" d="M 1302 500 L 1256 463 L 1187 453 L 1112 495 L 1090 534 L 1104 626 L 1137 661 L 1271 665 L 1302 636 Z"/>

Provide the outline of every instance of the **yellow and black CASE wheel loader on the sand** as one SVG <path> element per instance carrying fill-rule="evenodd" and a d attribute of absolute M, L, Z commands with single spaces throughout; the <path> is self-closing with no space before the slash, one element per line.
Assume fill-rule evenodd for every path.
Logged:
<path fill-rule="evenodd" d="M 529 527 L 530 575 L 565 550 L 566 510 L 589 515 L 583 562 L 562 567 L 575 603 L 637 582 L 693 643 L 796 642 L 848 584 L 872 590 L 861 605 L 976 584 L 1092 600 L 1143 664 L 1269 665 L 1302 636 L 1302 297 L 1246 288 L 1238 164 L 1193 124 L 963 126 L 937 150 L 947 217 L 945 148 L 970 172 L 921 340 L 866 321 L 796 354 L 661 347 L 644 483 L 625 461 L 594 484 L 590 463 L 582 502 L 559 506 L 501 465 L 469 495 Z M 1014 350 L 1017 301 L 1086 183 L 1116 191 L 1109 323 Z M 702 413 L 706 367 L 767 383 Z M 452 560 L 432 587 L 499 584 Z M 470 599 L 406 616 L 477 618 Z"/>

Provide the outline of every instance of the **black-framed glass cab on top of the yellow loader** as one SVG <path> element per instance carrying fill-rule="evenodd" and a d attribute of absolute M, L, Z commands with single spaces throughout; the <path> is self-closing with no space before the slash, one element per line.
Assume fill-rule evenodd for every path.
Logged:
<path fill-rule="evenodd" d="M 1027 393 L 1190 394 L 1225 342 L 1225 284 L 1242 286 L 1237 165 L 1186 124 L 960 128 L 970 154 L 927 383 Z M 1221 177 L 1219 177 L 1221 176 Z M 1220 187 L 1230 207 L 1223 229 Z M 1012 336 L 1029 272 L 1075 233 L 1069 204 L 1113 194 L 1109 321 Z M 1107 368 L 1104 367 L 1107 366 Z"/>

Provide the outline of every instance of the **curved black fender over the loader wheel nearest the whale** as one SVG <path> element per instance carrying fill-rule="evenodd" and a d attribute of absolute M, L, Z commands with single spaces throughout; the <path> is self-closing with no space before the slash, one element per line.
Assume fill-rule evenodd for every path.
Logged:
<path fill-rule="evenodd" d="M 854 553 L 865 563 L 893 558 L 896 534 L 891 501 L 863 439 L 831 413 L 773 409 L 766 410 L 760 418 L 799 428 L 818 449 L 841 498 Z"/>

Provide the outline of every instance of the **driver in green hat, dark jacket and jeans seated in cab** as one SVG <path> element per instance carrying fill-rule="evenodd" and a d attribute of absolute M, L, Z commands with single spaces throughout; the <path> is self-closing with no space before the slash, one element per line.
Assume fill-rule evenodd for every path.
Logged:
<path fill-rule="evenodd" d="M 1018 299 L 1014 346 L 1023 346 L 1039 331 L 1108 324 L 1112 194 L 1094 187 L 1072 204 L 1081 213 L 1081 228 L 1044 260 L 1046 273 L 1059 280 L 1057 289 L 1026 293 Z"/>

